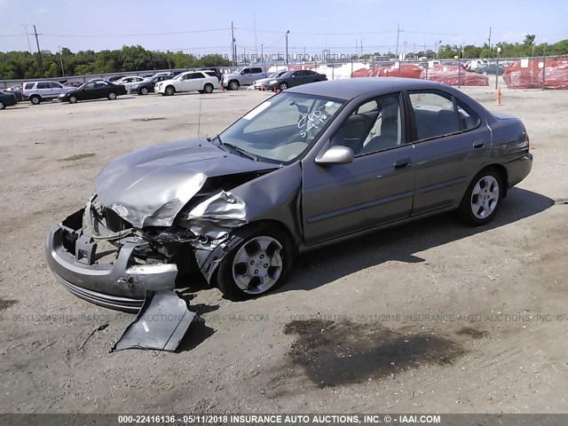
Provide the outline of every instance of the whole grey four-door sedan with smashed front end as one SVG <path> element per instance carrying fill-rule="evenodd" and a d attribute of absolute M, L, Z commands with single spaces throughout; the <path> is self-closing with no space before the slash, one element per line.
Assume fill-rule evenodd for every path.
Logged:
<path fill-rule="evenodd" d="M 532 163 L 520 120 L 452 87 L 306 84 L 215 138 L 110 162 L 46 255 L 76 296 L 124 311 L 194 271 L 230 299 L 258 296 L 309 248 L 453 209 L 485 225 Z"/>

